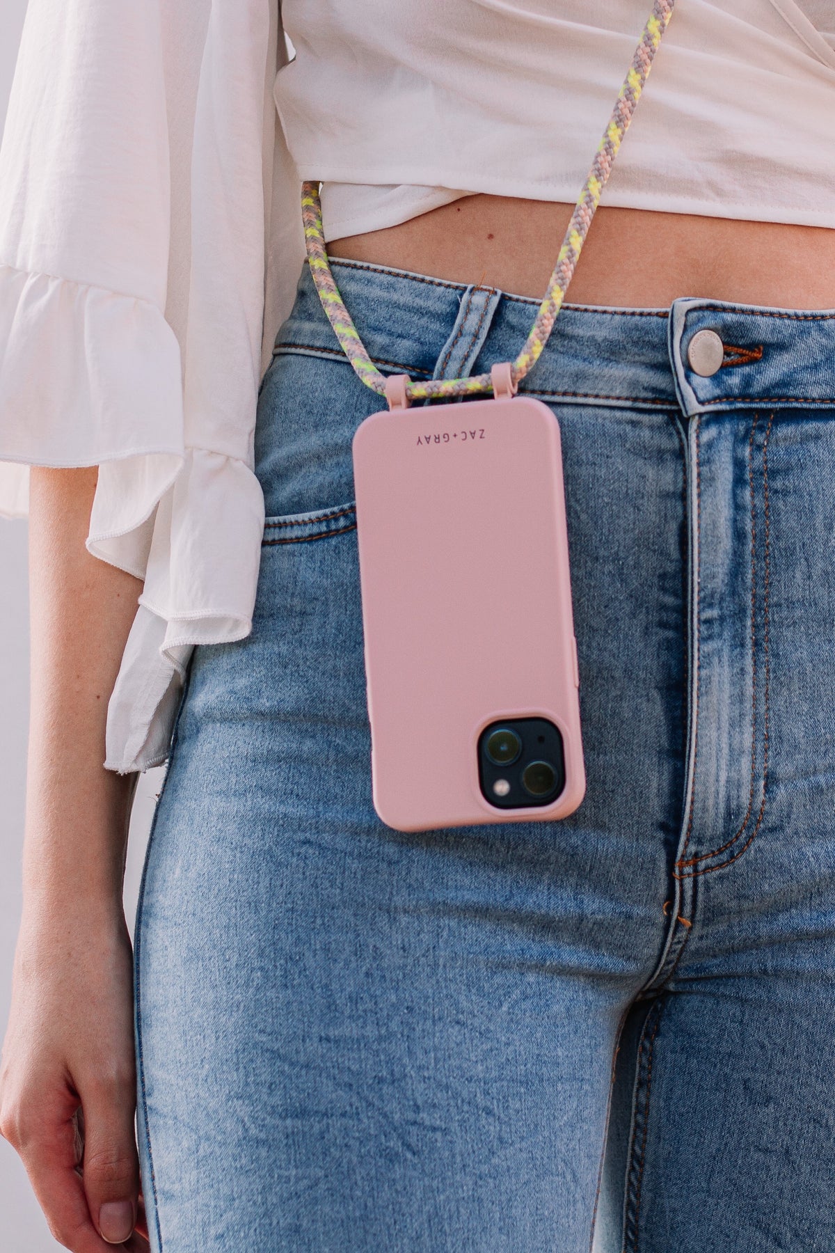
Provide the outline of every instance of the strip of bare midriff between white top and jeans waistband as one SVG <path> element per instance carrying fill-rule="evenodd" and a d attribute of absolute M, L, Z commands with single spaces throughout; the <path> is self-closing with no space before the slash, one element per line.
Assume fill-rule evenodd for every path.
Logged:
<path fill-rule="evenodd" d="M 366 261 L 541 297 L 572 205 L 468 195 L 396 227 L 328 244 Z M 681 296 L 774 308 L 835 308 L 835 229 L 602 205 L 567 299 L 660 308 Z"/>

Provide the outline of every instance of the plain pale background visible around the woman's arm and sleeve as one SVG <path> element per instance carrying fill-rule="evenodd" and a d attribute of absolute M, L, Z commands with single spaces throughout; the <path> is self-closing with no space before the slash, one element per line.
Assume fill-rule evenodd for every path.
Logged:
<path fill-rule="evenodd" d="M 25 9 L 26 0 L 0 3 L 0 124 L 6 114 Z M 49 368 L 49 362 L 45 362 L 45 368 Z M 0 412 L 0 426 L 3 417 Z M 0 1029 L 4 1034 L 20 920 L 28 628 L 26 524 L 0 519 Z M 160 779 L 161 771 L 149 771 L 139 781 L 125 882 L 129 921 L 133 921 L 135 910 L 146 832 Z M 60 1248 L 49 1234 L 15 1153 L 0 1140 L 0 1249 L 3 1253 L 55 1253 Z"/>

